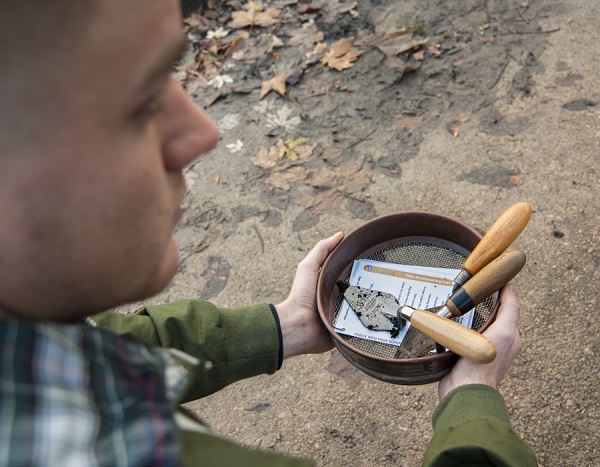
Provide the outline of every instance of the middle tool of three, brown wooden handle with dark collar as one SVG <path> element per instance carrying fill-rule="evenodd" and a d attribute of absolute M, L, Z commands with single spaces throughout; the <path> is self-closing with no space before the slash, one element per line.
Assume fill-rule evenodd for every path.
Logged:
<path fill-rule="evenodd" d="M 444 305 L 427 311 L 443 318 L 462 316 L 508 284 L 523 269 L 526 260 L 521 250 L 504 252 L 459 287 Z M 411 327 L 396 351 L 396 358 L 420 357 L 434 348 L 433 340 Z"/>

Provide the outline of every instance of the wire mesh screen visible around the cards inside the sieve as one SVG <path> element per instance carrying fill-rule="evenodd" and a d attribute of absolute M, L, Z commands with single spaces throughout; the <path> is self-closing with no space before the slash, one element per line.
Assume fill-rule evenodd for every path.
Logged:
<path fill-rule="evenodd" d="M 409 266 L 461 269 L 465 256 L 454 251 L 452 248 L 436 245 L 435 243 L 408 242 L 379 250 L 366 259 Z M 347 282 L 349 279 L 350 275 L 345 278 L 345 281 Z M 496 303 L 496 297 L 497 294 L 494 294 L 475 308 L 472 329 L 478 331 L 487 321 Z M 344 294 L 339 293 L 335 303 L 336 318 L 342 307 L 343 300 Z M 339 336 L 353 347 L 376 357 L 395 358 L 398 349 L 395 345 L 382 344 L 360 337 L 347 336 L 345 334 L 339 334 Z M 426 353 L 419 356 L 424 355 Z"/>

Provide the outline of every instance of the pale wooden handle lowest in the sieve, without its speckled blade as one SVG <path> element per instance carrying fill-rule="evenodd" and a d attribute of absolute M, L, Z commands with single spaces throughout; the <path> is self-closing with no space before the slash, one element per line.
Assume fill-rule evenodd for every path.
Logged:
<path fill-rule="evenodd" d="M 414 310 L 410 323 L 437 343 L 468 360 L 490 363 L 496 358 L 496 347 L 487 337 L 456 321 L 428 311 Z"/>

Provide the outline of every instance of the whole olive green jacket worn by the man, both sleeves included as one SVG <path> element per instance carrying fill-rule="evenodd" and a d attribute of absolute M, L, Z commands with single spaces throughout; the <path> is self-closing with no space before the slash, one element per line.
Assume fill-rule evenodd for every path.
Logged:
<path fill-rule="evenodd" d="M 220 308 L 185 300 L 147 306 L 135 314 L 107 312 L 97 325 L 131 335 L 151 346 L 173 347 L 204 362 L 182 402 L 195 400 L 244 378 L 273 374 L 281 366 L 281 334 L 267 304 Z M 183 422 L 183 465 L 306 466 L 311 461 L 242 448 L 218 437 L 197 421 Z M 184 418 L 183 418 L 184 417 Z M 434 436 L 423 465 L 537 465 L 529 446 L 510 426 L 502 396 L 483 385 L 448 394 L 433 416 Z"/>

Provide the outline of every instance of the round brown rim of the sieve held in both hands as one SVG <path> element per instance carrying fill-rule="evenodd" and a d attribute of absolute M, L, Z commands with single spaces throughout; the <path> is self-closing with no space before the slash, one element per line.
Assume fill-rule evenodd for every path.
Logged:
<path fill-rule="evenodd" d="M 409 367 L 425 368 L 423 372 L 428 374 L 420 375 L 417 370 L 414 380 L 400 378 L 400 384 L 422 384 L 423 377 L 424 382 L 441 379 L 458 359 L 454 352 L 397 359 L 373 355 L 342 338 L 332 325 L 338 294 L 335 283 L 348 276 L 355 259 L 367 258 L 386 248 L 413 242 L 432 243 L 450 248 L 466 258 L 481 238 L 481 233 L 459 219 L 426 211 L 405 211 L 377 217 L 352 230 L 328 256 L 317 280 L 317 309 L 338 351 L 361 371 L 384 381 L 397 382 L 394 381 L 396 370 Z M 477 332 L 485 331 L 495 320 L 499 305 L 497 296 L 497 293 L 494 294 L 489 316 Z M 389 369 L 387 374 L 386 368 Z"/>

